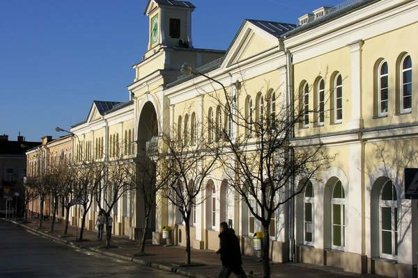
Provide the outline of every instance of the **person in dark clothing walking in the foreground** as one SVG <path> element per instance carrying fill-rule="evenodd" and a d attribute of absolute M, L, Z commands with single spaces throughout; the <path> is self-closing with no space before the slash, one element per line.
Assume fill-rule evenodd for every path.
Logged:
<path fill-rule="evenodd" d="M 239 278 L 247 278 L 241 266 L 240 240 L 235 236 L 235 231 L 229 229 L 226 222 L 220 224 L 220 231 L 219 250 L 216 253 L 221 254 L 222 270 L 219 272 L 218 277 L 227 278 L 233 272 Z"/>

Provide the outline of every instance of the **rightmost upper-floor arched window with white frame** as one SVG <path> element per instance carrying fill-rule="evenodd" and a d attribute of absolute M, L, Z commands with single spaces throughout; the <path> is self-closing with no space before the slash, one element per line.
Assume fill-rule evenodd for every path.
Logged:
<path fill-rule="evenodd" d="M 412 108 L 412 60 L 407 54 L 401 61 L 401 111 L 409 112 Z"/>

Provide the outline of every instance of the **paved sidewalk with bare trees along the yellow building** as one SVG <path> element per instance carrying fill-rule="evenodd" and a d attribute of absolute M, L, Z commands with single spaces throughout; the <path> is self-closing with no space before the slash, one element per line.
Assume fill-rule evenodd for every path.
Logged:
<path fill-rule="evenodd" d="M 2 218 L 4 219 L 4 218 Z M 37 229 L 39 226 L 38 218 L 30 218 L 31 223 L 22 224 L 21 222 L 10 220 L 11 222 L 24 227 L 28 231 L 31 231 L 40 236 L 51 238 L 57 242 L 65 243 L 68 245 L 74 245 L 77 248 L 84 250 L 91 250 L 112 256 L 116 259 L 125 261 L 132 261 L 142 265 L 148 265 L 153 268 L 160 268 L 171 272 L 176 272 L 187 277 L 196 278 L 216 278 L 219 270 L 221 270 L 221 262 L 219 255 L 215 254 L 211 250 L 192 250 L 192 263 L 196 266 L 185 267 L 182 264 L 185 261 L 186 253 L 184 247 L 171 246 L 165 247 L 164 245 L 151 245 L 147 244 L 145 252 L 147 256 L 134 256 L 139 252 L 139 245 L 134 240 L 128 239 L 126 236 L 114 236 L 111 237 L 111 245 L 117 246 L 117 248 L 100 248 L 105 244 L 105 240 L 98 241 L 96 231 L 84 230 L 82 242 L 75 242 L 76 227 L 68 227 L 68 237 L 63 238 L 64 224 L 63 222 L 56 222 L 54 225 L 54 231 L 49 232 L 51 222 L 49 220 L 42 221 L 42 229 Z M 79 228 L 78 228 L 79 234 Z M 104 234 L 103 237 L 105 237 Z M 242 267 L 247 272 L 248 277 L 258 278 L 263 277 L 263 265 L 261 261 L 253 256 L 242 256 Z M 355 273 L 343 272 L 339 268 L 332 268 L 328 266 L 310 265 L 307 263 L 272 263 L 272 278 L 279 277 L 381 277 L 378 275 L 357 275 Z M 250 272 L 252 274 L 250 275 Z M 234 277 L 234 275 L 231 275 Z"/>

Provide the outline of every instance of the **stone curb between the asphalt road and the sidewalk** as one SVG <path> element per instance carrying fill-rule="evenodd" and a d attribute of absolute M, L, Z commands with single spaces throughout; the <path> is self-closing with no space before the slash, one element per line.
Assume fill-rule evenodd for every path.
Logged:
<path fill-rule="evenodd" d="M 148 266 L 150 268 L 157 268 L 157 269 L 164 270 L 164 271 L 167 271 L 167 272 L 178 273 L 178 274 L 183 275 L 183 276 L 186 276 L 186 277 L 191 277 L 191 278 L 211 278 L 211 277 L 208 277 L 206 275 L 194 274 L 192 272 L 188 272 L 188 271 L 185 271 L 185 270 L 181 270 L 180 268 L 176 268 L 176 267 L 171 267 L 169 265 L 162 265 L 160 263 L 150 263 L 150 262 L 147 262 L 147 261 L 143 261 L 141 259 L 131 258 L 130 256 L 123 256 L 123 255 L 120 255 L 120 254 L 114 254 L 112 252 L 100 250 L 100 249 L 98 249 L 96 247 L 83 247 L 82 245 L 77 245 L 77 244 L 75 244 L 74 242 L 72 242 L 70 240 L 63 240 L 61 238 L 56 238 L 55 236 L 51 236 L 51 235 L 49 235 L 49 234 L 47 234 L 47 233 L 45 233 L 43 231 L 39 231 L 37 229 L 33 229 L 31 227 L 26 226 L 25 224 L 16 222 L 15 220 L 10 220 L 10 219 L 6 219 L 6 218 L 1 218 L 1 220 L 5 220 L 6 222 L 11 222 L 11 223 L 16 224 L 16 225 L 18 225 L 20 227 L 23 227 L 24 229 L 26 229 L 26 231 L 29 231 L 31 234 L 36 234 L 38 236 L 42 236 L 44 238 L 48 238 L 48 239 L 50 239 L 52 241 L 56 241 L 58 243 L 63 243 L 63 244 L 66 244 L 66 245 L 70 245 L 71 247 L 74 247 L 74 248 L 77 248 L 77 249 L 90 250 L 90 251 L 96 252 L 98 254 L 102 254 L 104 256 L 110 256 L 112 258 L 120 259 L 120 260 L 123 260 L 123 261 L 130 261 L 132 263 L 137 263 L 139 265 Z"/>

